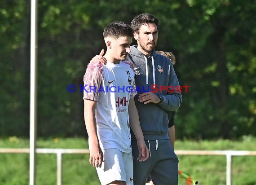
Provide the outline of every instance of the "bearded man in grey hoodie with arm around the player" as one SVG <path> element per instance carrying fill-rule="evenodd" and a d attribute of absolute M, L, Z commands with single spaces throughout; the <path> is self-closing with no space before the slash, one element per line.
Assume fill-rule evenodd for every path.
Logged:
<path fill-rule="evenodd" d="M 141 129 L 150 158 L 139 162 L 136 138 L 132 135 L 133 181 L 145 185 L 150 174 L 155 185 L 178 184 L 178 158 L 168 138 L 168 111 L 177 110 L 182 96 L 179 82 L 170 60 L 155 52 L 159 20 L 154 15 L 142 13 L 133 18 L 131 27 L 137 45 L 131 46 L 127 60 L 135 69 L 138 96 L 135 103 Z M 104 50 L 91 62 L 106 63 Z"/>

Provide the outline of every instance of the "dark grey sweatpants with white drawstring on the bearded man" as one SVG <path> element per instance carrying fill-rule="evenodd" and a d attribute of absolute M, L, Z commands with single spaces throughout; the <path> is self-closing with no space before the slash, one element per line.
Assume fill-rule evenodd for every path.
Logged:
<path fill-rule="evenodd" d="M 154 185 L 178 185 L 178 158 L 169 140 L 145 140 L 150 150 L 150 158 L 144 162 L 137 160 L 139 151 L 137 141 L 132 141 L 133 182 L 145 185 L 150 174 Z"/>

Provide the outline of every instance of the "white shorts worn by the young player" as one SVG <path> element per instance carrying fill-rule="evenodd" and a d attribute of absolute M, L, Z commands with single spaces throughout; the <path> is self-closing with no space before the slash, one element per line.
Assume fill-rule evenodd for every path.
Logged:
<path fill-rule="evenodd" d="M 102 167 L 96 167 L 97 174 L 102 185 L 113 181 L 125 181 L 127 185 L 133 185 L 132 152 L 124 153 L 118 149 L 102 150 Z"/>

